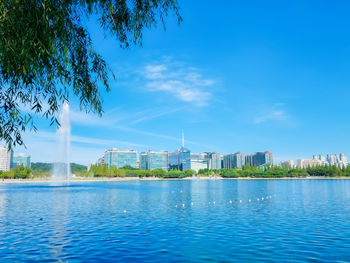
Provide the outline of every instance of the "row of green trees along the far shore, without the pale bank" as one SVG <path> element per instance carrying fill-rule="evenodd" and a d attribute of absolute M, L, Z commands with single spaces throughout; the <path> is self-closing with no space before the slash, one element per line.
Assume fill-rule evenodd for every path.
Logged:
<path fill-rule="evenodd" d="M 116 168 L 115 166 L 107 167 L 107 165 L 92 165 L 89 171 L 86 166 L 79 164 L 71 164 L 72 173 L 78 176 L 86 177 L 158 177 L 158 178 L 185 178 L 192 175 L 209 176 L 217 175 L 223 178 L 303 178 L 309 176 L 318 177 L 348 177 L 350 176 L 350 166 L 315 166 L 305 169 L 300 168 L 283 168 L 279 166 L 269 167 L 252 167 L 244 166 L 242 169 L 201 169 L 198 173 L 194 170 L 170 170 L 163 169 L 139 170 L 129 166 Z M 0 171 L 2 179 L 28 179 L 28 178 L 46 178 L 49 177 L 52 170 L 52 164 L 33 163 L 32 168 L 16 166 L 8 172 Z"/>

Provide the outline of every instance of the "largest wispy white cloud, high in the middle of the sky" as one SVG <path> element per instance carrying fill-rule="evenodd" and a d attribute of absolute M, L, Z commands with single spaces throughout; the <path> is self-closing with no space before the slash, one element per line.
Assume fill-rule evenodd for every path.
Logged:
<path fill-rule="evenodd" d="M 143 75 L 148 91 L 161 91 L 196 106 L 207 105 L 213 96 L 208 88 L 213 86 L 214 80 L 205 78 L 194 67 L 151 64 L 144 68 Z"/>

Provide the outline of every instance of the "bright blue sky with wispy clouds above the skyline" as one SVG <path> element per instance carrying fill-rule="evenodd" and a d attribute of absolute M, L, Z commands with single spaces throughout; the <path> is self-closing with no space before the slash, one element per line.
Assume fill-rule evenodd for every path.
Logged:
<path fill-rule="evenodd" d="M 74 162 L 105 149 L 222 154 L 270 150 L 275 162 L 349 154 L 348 1 L 180 1 L 183 23 L 127 50 L 90 24 L 117 79 L 102 118 L 72 99 Z M 55 127 L 26 135 L 32 161 L 55 160 Z"/>

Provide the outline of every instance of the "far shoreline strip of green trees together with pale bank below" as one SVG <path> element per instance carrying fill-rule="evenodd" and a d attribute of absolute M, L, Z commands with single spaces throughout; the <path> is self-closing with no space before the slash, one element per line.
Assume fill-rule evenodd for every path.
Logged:
<path fill-rule="evenodd" d="M 106 165 L 92 165 L 87 167 L 71 164 L 72 181 L 125 181 L 125 180 L 169 180 L 169 179 L 350 179 L 350 166 L 314 166 L 308 168 L 283 168 L 280 166 L 252 167 L 242 169 L 201 169 L 170 170 L 163 169 L 139 170 L 130 166 L 117 169 Z M 50 180 L 52 164 L 33 163 L 32 168 L 15 167 L 8 172 L 0 171 L 2 182 L 46 182 Z"/>

